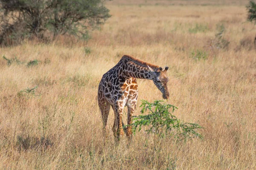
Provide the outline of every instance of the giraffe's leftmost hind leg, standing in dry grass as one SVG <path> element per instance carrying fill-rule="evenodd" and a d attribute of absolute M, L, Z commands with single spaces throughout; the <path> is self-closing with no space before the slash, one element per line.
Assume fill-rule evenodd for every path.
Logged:
<path fill-rule="evenodd" d="M 106 129 L 107 129 L 107 124 L 108 124 L 108 114 L 110 110 L 110 104 L 105 98 L 98 99 L 99 102 L 99 109 L 101 111 L 102 115 L 102 122 L 103 122 L 103 136 L 104 138 L 108 136 Z"/>

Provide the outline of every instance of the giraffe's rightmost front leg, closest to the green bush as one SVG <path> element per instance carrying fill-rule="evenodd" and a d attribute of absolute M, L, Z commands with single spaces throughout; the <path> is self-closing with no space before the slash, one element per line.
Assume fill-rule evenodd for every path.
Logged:
<path fill-rule="evenodd" d="M 132 116 L 134 115 L 134 111 L 137 105 L 137 100 L 131 101 L 131 104 L 127 105 L 128 108 L 128 114 L 127 114 L 127 130 L 126 130 L 126 136 L 131 139 L 132 135 Z"/>

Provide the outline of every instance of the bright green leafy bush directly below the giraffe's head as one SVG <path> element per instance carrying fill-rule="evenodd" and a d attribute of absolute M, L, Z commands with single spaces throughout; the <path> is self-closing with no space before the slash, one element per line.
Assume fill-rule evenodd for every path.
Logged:
<path fill-rule="evenodd" d="M 183 123 L 172 113 L 177 109 L 176 106 L 163 103 L 163 101 L 155 100 L 150 103 L 142 100 L 141 113 L 149 112 L 147 115 L 133 116 L 134 123 L 132 124 L 134 133 L 136 129 L 139 131 L 142 127 L 146 127 L 147 133 L 154 134 L 154 139 L 160 139 L 164 136 L 175 136 L 178 139 L 186 139 L 202 136 L 197 132 L 202 128 L 196 123 Z M 171 109 L 171 112 L 169 111 Z"/>

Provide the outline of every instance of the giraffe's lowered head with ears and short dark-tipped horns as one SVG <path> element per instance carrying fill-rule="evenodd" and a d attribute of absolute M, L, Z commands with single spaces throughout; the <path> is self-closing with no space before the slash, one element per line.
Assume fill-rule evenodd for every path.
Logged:
<path fill-rule="evenodd" d="M 167 82 L 169 81 L 166 72 L 169 67 L 165 66 L 165 68 L 160 67 L 158 70 L 154 71 L 152 68 L 148 66 L 153 78 L 154 84 L 157 86 L 157 88 L 162 92 L 163 99 L 169 98 L 169 91 L 167 87 Z"/>

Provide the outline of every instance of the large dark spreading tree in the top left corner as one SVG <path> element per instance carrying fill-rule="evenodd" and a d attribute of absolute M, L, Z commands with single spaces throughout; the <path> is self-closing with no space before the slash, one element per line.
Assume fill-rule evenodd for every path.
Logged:
<path fill-rule="evenodd" d="M 0 16 L 0 44 L 12 45 L 46 35 L 86 39 L 110 14 L 102 0 L 0 0 Z"/>

